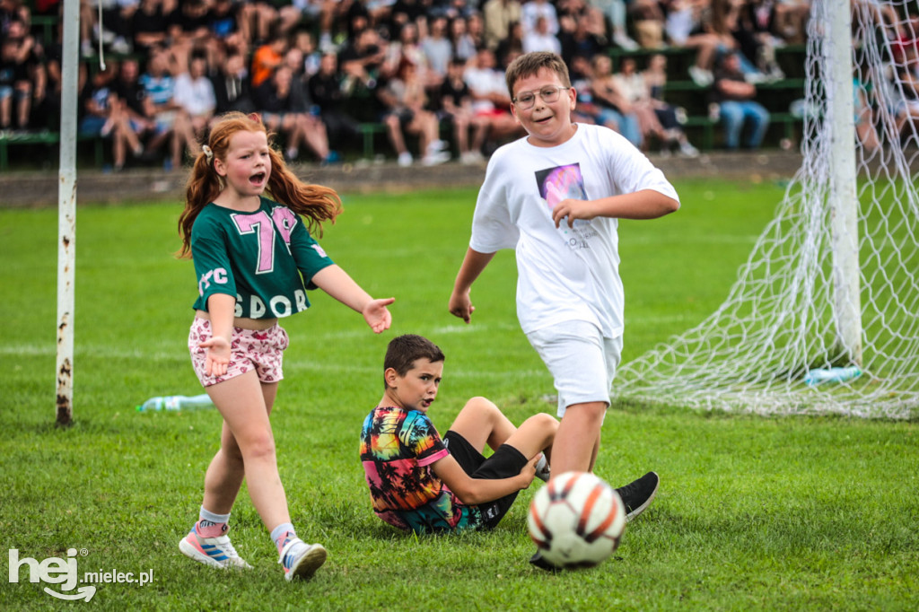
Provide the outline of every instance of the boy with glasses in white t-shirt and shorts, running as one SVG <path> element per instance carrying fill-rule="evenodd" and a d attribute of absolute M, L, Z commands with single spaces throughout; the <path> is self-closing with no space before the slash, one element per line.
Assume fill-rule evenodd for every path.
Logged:
<path fill-rule="evenodd" d="M 622 350 L 618 219 L 661 217 L 679 199 L 618 133 L 572 122 L 577 94 L 558 55 L 522 55 L 505 81 L 528 136 L 488 164 L 449 311 L 469 323 L 472 283 L 496 251 L 516 250 L 517 318 L 558 391 L 551 473 L 593 471 Z M 618 489 L 630 519 L 651 503 L 658 482 L 648 472 Z M 531 562 L 546 568 L 539 553 Z"/>

